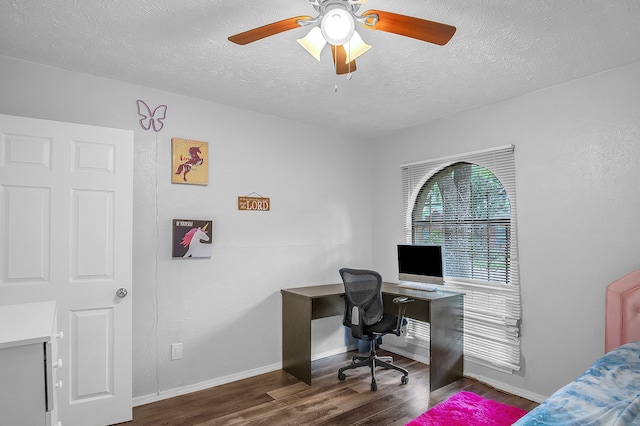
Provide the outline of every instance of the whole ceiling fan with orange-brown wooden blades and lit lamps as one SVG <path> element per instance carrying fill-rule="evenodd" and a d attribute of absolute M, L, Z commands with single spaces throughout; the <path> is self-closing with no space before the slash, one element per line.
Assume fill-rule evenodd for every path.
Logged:
<path fill-rule="evenodd" d="M 229 41 L 245 45 L 284 31 L 313 26 L 298 43 L 320 61 L 322 49 L 329 44 L 336 74 L 356 70 L 356 59 L 371 48 L 355 30 L 355 23 L 372 30 L 385 31 L 443 46 L 451 40 L 456 27 L 439 22 L 382 10 L 367 10 L 358 15 L 367 0 L 309 0 L 318 16 L 296 16 L 232 35 Z"/>

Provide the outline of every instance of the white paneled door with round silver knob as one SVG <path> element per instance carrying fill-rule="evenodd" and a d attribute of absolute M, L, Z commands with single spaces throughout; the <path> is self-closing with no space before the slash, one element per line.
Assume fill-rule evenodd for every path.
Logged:
<path fill-rule="evenodd" d="M 131 419 L 132 203 L 131 131 L 0 115 L 0 304 L 57 302 L 63 426 Z"/>

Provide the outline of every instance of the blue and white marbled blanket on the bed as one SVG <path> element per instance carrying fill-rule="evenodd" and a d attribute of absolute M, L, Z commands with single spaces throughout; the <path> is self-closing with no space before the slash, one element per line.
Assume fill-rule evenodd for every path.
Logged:
<path fill-rule="evenodd" d="M 515 425 L 640 425 L 640 341 L 598 359 Z"/>

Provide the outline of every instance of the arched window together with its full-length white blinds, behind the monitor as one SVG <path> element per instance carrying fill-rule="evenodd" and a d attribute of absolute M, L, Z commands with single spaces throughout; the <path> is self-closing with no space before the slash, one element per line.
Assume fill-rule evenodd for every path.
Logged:
<path fill-rule="evenodd" d="M 465 294 L 465 359 L 507 372 L 520 369 L 514 160 L 508 146 L 402 166 L 406 242 L 441 245 L 444 285 Z"/>

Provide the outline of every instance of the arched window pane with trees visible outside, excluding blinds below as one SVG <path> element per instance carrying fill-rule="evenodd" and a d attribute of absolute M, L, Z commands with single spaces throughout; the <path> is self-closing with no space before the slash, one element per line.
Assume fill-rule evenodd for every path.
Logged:
<path fill-rule="evenodd" d="M 444 247 L 445 274 L 508 283 L 511 204 L 485 167 L 459 162 L 427 180 L 412 214 L 412 244 Z"/>

